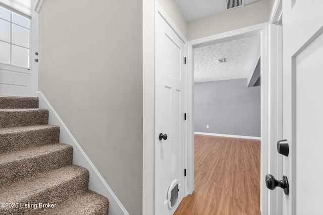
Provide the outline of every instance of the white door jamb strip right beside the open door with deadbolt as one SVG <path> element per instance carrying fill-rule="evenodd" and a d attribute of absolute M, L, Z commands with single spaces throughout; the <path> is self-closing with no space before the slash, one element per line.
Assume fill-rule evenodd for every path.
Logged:
<path fill-rule="evenodd" d="M 268 173 L 283 178 L 282 155 L 277 152 L 277 141 L 283 139 L 282 100 L 282 0 L 276 0 L 268 28 L 268 53 L 270 71 L 270 135 L 268 136 Z M 268 191 L 268 214 L 282 214 L 283 190 Z"/>

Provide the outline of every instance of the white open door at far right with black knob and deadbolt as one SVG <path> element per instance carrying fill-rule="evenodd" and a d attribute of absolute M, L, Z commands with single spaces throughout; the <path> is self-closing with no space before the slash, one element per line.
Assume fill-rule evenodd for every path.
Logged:
<path fill-rule="evenodd" d="M 323 1 L 283 1 L 283 214 L 323 214 Z"/>

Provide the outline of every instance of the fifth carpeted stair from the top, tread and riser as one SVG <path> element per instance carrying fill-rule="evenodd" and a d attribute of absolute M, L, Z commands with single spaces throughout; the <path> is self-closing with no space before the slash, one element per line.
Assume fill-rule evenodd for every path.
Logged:
<path fill-rule="evenodd" d="M 88 190 L 88 177 L 88 170 L 76 165 L 39 173 L 0 188 L 0 202 L 59 204 Z M 31 209 L 0 207 L 0 214 L 22 214 L 30 212 Z"/>

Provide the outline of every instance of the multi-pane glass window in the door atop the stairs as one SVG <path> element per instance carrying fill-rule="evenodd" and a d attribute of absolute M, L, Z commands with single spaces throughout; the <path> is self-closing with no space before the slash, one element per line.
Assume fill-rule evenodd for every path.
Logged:
<path fill-rule="evenodd" d="M 30 19 L 1 6 L 0 63 L 30 66 Z"/>

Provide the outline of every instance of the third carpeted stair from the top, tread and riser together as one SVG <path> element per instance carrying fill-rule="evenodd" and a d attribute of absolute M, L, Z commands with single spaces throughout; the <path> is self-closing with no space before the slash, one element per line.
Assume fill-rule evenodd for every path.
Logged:
<path fill-rule="evenodd" d="M 57 125 L 0 128 L 0 154 L 59 141 L 60 127 Z"/>

